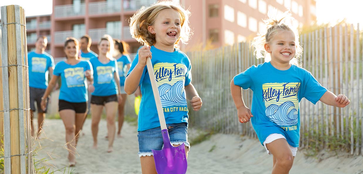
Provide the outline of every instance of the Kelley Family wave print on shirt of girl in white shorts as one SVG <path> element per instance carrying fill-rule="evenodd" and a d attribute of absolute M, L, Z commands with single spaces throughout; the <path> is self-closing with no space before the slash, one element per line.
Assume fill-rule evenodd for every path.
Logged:
<path fill-rule="evenodd" d="M 262 84 L 266 116 L 286 131 L 297 129 L 299 89 L 299 82 Z"/>

